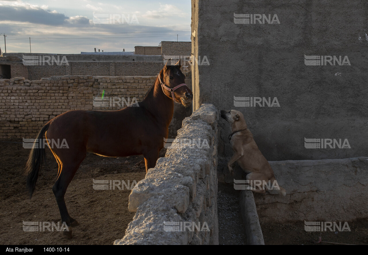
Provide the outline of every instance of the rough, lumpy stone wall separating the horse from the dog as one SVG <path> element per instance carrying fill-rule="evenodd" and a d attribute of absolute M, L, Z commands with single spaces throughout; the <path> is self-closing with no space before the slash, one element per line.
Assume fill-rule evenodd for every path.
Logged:
<path fill-rule="evenodd" d="M 218 244 L 218 116 L 203 104 L 184 119 L 173 148 L 133 188 L 129 210 L 136 214 L 114 244 Z"/>

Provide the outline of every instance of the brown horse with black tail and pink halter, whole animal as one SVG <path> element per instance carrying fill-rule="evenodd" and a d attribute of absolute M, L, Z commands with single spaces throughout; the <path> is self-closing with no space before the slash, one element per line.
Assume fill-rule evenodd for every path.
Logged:
<path fill-rule="evenodd" d="M 71 227 L 79 224 L 69 216 L 64 195 L 87 151 L 106 157 L 143 155 L 146 172 L 156 165 L 164 146 L 163 138 L 167 139 L 169 133 L 173 101 L 188 106 L 193 98 L 180 68 L 180 60 L 175 65 L 169 65 L 167 61 L 138 107 L 125 107 L 117 111 L 71 110 L 56 116 L 42 127 L 35 143 L 42 141 L 44 134 L 46 139 L 50 139 L 47 143 L 58 139 L 66 139 L 67 142 L 68 148 L 53 148 L 50 143 L 49 147 L 59 164 L 52 190 L 61 220 L 68 226 L 67 231 L 64 231 L 68 238 L 72 236 Z M 27 189 L 31 197 L 45 156 L 42 146 L 33 146 L 29 154 L 26 170 Z"/>

